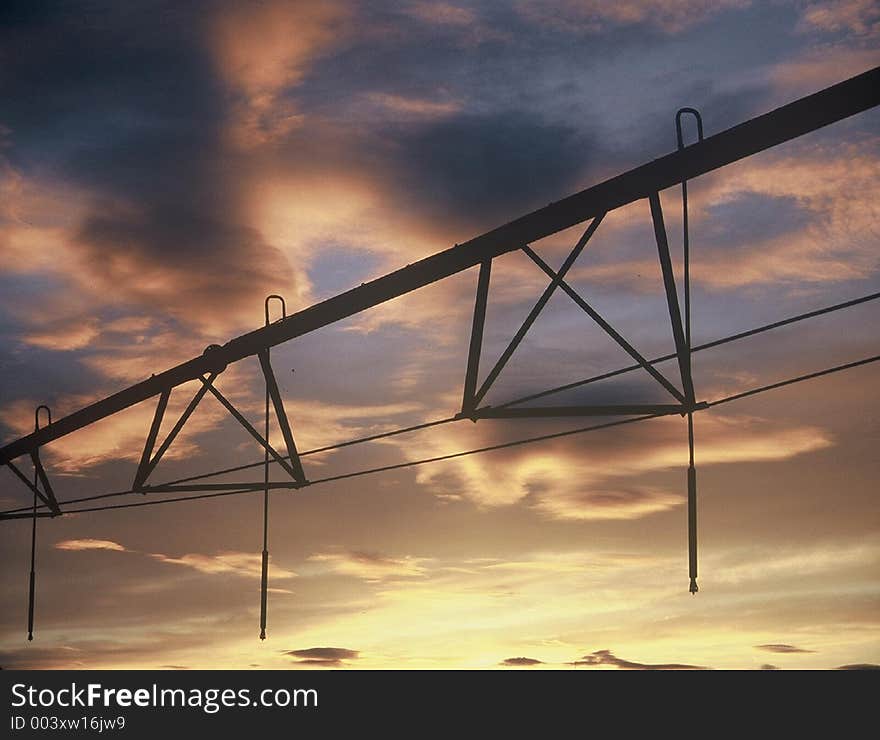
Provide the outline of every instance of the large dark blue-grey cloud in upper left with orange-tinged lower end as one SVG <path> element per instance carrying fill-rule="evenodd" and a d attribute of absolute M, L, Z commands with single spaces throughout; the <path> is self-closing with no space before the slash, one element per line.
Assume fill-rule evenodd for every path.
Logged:
<path fill-rule="evenodd" d="M 214 324 L 289 290 L 285 259 L 247 226 L 210 13 L 159 2 L 13 15 L 0 114 L 10 159 L 91 203 L 70 242 L 93 289 Z"/>

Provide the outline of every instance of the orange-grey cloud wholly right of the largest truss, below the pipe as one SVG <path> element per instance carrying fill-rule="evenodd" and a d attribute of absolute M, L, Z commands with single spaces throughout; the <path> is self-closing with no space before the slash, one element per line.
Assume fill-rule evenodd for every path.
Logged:
<path fill-rule="evenodd" d="M 709 241 L 712 269 L 698 268 L 695 278 L 728 289 L 866 278 L 878 266 L 870 246 L 878 216 L 870 197 L 880 183 L 876 152 L 875 137 L 802 141 L 713 175 L 701 186 L 692 230 Z M 781 211 L 790 214 L 787 228 L 779 230 L 766 207 L 756 210 L 759 199 L 773 211 L 788 204 Z M 720 231 L 734 228 L 746 212 L 758 214 L 759 228 L 716 248 Z"/>

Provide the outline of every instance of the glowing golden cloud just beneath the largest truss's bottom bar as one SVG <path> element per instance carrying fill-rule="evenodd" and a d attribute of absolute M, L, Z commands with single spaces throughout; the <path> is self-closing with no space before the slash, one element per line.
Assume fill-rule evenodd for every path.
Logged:
<path fill-rule="evenodd" d="M 425 465 L 416 468 L 416 480 L 434 495 L 464 497 L 484 507 L 525 501 L 554 519 L 635 519 L 683 502 L 677 491 L 637 480 L 682 466 L 681 429 L 679 419 L 656 419 L 591 434 L 586 446 L 575 436 Z M 516 430 L 503 422 L 481 422 L 477 429 L 441 427 L 426 437 L 420 452 L 440 456 L 525 436 L 514 435 Z M 530 431 L 540 433 L 540 427 Z M 831 444 L 816 427 L 750 417 L 700 418 L 701 466 L 786 460 Z"/>

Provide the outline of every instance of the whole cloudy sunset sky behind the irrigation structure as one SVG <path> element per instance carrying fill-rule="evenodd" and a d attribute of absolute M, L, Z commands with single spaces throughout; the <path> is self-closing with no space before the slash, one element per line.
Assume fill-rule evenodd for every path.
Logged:
<path fill-rule="evenodd" d="M 871 0 L 4 3 L 0 434 L 257 328 L 268 294 L 293 313 L 666 154 L 682 106 L 711 135 L 878 63 Z M 695 344 L 880 290 L 878 123 L 690 183 Z M 661 198 L 680 278 L 679 189 Z M 555 269 L 585 226 L 532 246 Z M 299 449 L 456 413 L 476 278 L 274 348 Z M 522 252 L 494 261 L 483 374 L 547 282 Z M 672 350 L 647 202 L 608 214 L 569 282 L 644 355 Z M 877 311 L 696 354 L 697 398 L 876 355 Z M 554 294 L 486 401 L 628 364 Z M 261 494 L 41 519 L 31 643 L 31 525 L 3 522 L 0 665 L 880 664 L 878 381 L 867 365 L 695 416 L 696 595 L 672 416 L 273 493 L 262 642 Z M 261 423 L 254 358 L 217 385 Z M 545 402 L 665 400 L 639 372 Z M 154 407 L 47 445 L 59 499 L 128 488 Z M 303 463 L 323 478 L 589 421 L 463 421 Z M 208 397 L 152 480 L 261 458 Z M 2 508 L 30 503 L 0 481 Z"/>

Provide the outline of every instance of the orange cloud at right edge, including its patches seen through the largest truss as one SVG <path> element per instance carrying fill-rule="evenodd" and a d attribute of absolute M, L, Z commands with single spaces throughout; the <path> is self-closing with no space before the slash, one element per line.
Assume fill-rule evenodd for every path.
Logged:
<path fill-rule="evenodd" d="M 861 280 L 880 268 L 875 240 L 880 206 L 877 137 L 851 142 L 816 143 L 803 140 L 779 152 L 769 152 L 701 177 L 689 190 L 690 237 L 694 249 L 691 279 L 720 290 L 752 285 L 793 285 Z M 669 213 L 677 208 L 677 193 L 667 191 Z M 795 203 L 800 222 L 780 234 L 750 230 L 735 244 L 714 243 L 723 224 L 712 219 L 713 209 L 758 197 Z M 740 218 L 739 214 L 736 218 Z M 647 222 L 614 224 L 617 238 Z M 670 217 L 671 218 L 671 217 Z M 603 224 L 603 229 L 605 224 Z M 747 239 L 747 241 L 745 241 Z M 679 265 L 680 267 L 680 265 Z M 572 281 L 586 280 L 647 291 L 657 285 L 655 258 L 617 259 L 580 265 Z"/>

